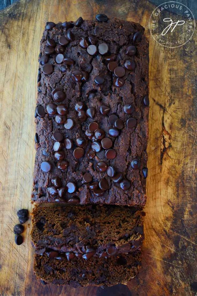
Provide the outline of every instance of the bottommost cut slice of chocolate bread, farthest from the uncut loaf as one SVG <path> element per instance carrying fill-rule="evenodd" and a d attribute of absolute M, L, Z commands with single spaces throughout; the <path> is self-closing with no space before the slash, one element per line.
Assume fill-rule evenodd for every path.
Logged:
<path fill-rule="evenodd" d="M 90 260 L 68 261 L 34 255 L 34 273 L 46 283 L 77 286 L 113 286 L 127 284 L 138 274 L 141 253 L 133 252 L 109 258 L 92 257 Z"/>

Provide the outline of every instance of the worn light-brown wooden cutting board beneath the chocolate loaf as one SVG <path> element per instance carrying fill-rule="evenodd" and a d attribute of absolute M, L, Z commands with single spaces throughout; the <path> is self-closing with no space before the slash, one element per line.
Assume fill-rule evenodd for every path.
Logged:
<path fill-rule="evenodd" d="M 162 3 L 162 1 L 161 1 Z M 0 12 L 1 296 L 188 296 L 196 291 L 195 40 L 170 49 L 150 36 L 156 6 L 142 1 L 25 0 Z M 30 219 L 24 243 L 14 243 L 20 208 L 32 209 L 34 109 L 39 42 L 46 21 L 93 19 L 97 13 L 133 20 L 150 41 L 148 201 L 140 274 L 127 286 L 44 286 L 33 275 Z"/>

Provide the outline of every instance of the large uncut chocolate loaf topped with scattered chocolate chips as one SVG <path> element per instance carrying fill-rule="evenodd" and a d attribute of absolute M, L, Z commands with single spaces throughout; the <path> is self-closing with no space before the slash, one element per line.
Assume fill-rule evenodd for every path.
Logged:
<path fill-rule="evenodd" d="M 117 18 L 73 25 L 48 23 L 41 40 L 32 200 L 143 206 L 148 140 L 144 28 Z M 87 172 L 91 176 L 84 177 Z M 57 176 L 61 182 L 54 186 Z"/>

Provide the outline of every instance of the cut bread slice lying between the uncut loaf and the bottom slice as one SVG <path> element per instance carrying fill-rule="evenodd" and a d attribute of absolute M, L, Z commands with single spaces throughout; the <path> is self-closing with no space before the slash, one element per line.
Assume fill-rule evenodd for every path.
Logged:
<path fill-rule="evenodd" d="M 131 207 L 35 207 L 32 225 L 31 239 L 39 254 L 51 249 L 80 253 L 85 259 L 108 256 L 133 252 L 144 238 L 141 212 Z"/>

